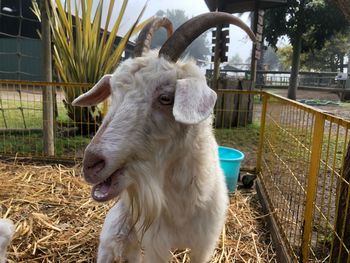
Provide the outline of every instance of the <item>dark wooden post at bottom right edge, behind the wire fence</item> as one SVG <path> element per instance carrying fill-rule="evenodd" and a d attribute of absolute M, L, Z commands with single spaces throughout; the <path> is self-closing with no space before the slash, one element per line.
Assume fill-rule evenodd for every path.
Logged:
<path fill-rule="evenodd" d="M 343 163 L 342 178 L 337 184 L 337 209 L 330 262 L 349 262 L 350 248 L 350 142 Z M 346 247 L 346 249 L 344 248 Z"/>

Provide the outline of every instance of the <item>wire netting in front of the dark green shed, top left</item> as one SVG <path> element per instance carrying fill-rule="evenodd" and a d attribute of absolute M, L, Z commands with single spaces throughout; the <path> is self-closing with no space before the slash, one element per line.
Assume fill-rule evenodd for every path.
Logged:
<path fill-rule="evenodd" d="M 42 80 L 40 21 L 31 0 L 0 1 L 0 79 Z"/>

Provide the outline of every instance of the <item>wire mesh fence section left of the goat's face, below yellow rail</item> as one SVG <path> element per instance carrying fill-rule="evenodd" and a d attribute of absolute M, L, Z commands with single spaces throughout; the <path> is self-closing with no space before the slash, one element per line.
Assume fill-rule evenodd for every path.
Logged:
<path fill-rule="evenodd" d="M 25 157 L 44 155 L 43 90 L 54 90 L 55 158 L 81 158 L 97 131 L 99 108 L 71 107 L 67 97 L 89 84 L 0 81 L 0 153 Z"/>

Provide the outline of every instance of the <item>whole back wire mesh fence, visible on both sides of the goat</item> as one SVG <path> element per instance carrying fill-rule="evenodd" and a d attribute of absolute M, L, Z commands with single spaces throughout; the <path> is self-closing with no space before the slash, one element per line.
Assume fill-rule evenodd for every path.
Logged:
<path fill-rule="evenodd" d="M 18 157 L 79 160 L 96 133 L 106 104 L 72 107 L 71 101 L 90 84 L 0 80 L 0 154 Z M 43 138 L 43 90 L 54 94 L 54 156 L 46 156 Z M 216 135 L 225 146 L 245 151 L 244 166 L 253 169 L 260 127 L 257 93 L 220 91 L 216 107 Z M 245 105 L 248 105 L 249 108 Z M 256 104 L 256 105 L 255 105 Z"/>

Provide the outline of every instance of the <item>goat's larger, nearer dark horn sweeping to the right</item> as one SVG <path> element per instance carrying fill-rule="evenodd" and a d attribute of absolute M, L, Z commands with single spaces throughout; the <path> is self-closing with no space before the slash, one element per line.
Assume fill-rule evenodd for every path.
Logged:
<path fill-rule="evenodd" d="M 193 17 L 182 24 L 159 50 L 159 57 L 163 56 L 176 62 L 193 40 L 220 24 L 233 24 L 242 28 L 255 42 L 253 31 L 241 19 L 225 12 L 210 12 Z"/>

